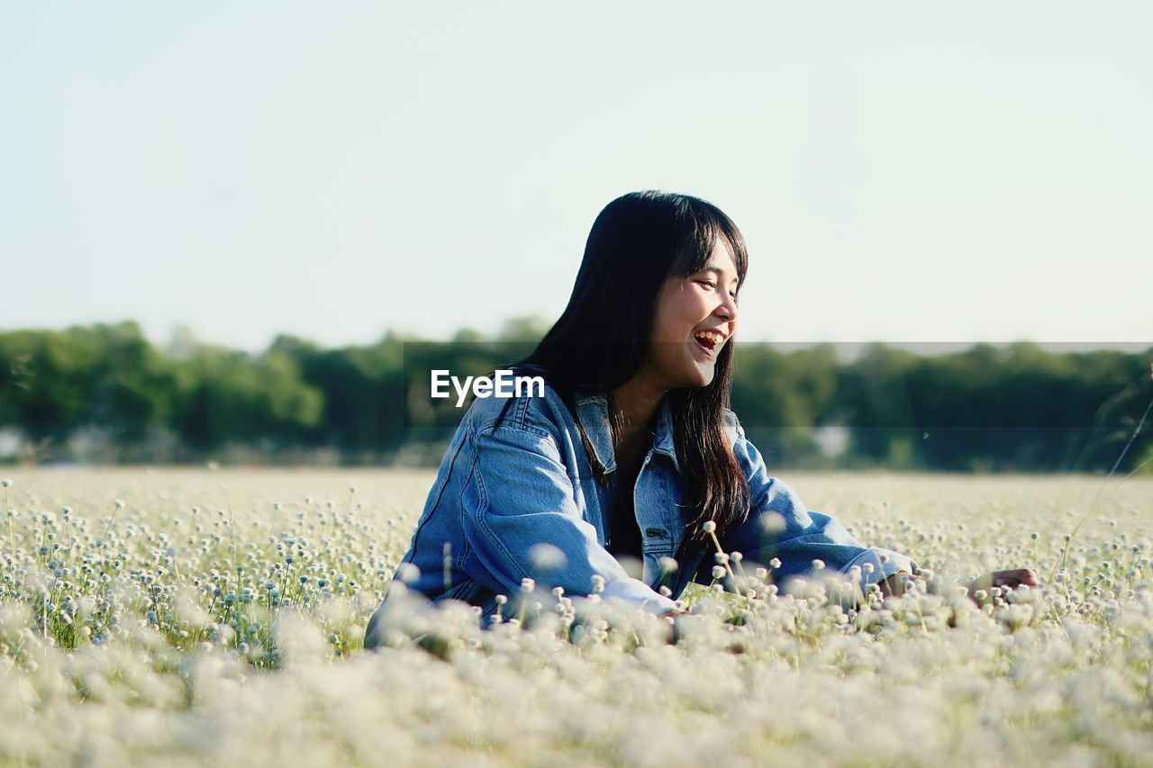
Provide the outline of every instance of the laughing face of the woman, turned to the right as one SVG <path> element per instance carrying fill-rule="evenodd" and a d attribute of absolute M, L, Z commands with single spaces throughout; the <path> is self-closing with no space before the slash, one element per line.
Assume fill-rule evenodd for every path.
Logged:
<path fill-rule="evenodd" d="M 706 386 L 737 330 L 737 265 L 717 239 L 704 269 L 665 281 L 642 369 L 664 390 Z"/>

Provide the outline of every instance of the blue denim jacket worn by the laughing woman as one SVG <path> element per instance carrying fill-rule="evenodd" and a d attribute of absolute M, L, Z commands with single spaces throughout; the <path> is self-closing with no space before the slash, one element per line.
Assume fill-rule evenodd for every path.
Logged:
<path fill-rule="evenodd" d="M 656 612 L 673 609 L 673 600 L 689 581 L 709 583 L 715 548 L 681 551 L 689 521 L 681 509 L 669 398 L 661 401 L 653 445 L 633 496 L 641 579 L 631 578 L 605 549 L 617 482 L 608 400 L 603 394 L 578 394 L 574 405 L 596 458 L 612 479 L 609 487 L 594 476 L 573 415 L 551 386 L 545 385 L 544 397 L 521 396 L 511 404 L 507 398 L 477 398 L 440 462 L 394 578 L 407 571 L 409 592 L 434 602 L 455 598 L 480 605 L 483 617 L 495 612 L 497 595 L 517 595 L 523 579 L 578 596 L 593 593 L 595 577 L 601 577 L 602 596 Z M 873 563 L 872 573 L 861 574 L 862 582 L 919 571 L 909 557 L 866 548 L 836 519 L 806 509 L 792 489 L 768 474 L 736 414 L 726 411 L 725 419 L 748 482 L 749 512 L 729 527 L 721 547 L 741 552 L 746 572 L 768 567 L 774 558 L 781 562 L 770 571 L 777 582 L 811 571 L 815 559 L 844 573 Z M 673 557 L 678 567 L 670 571 L 666 558 Z M 661 586 L 671 597 L 658 593 Z M 369 647 L 378 641 L 374 627 L 387 602 L 386 595 L 369 623 Z"/>

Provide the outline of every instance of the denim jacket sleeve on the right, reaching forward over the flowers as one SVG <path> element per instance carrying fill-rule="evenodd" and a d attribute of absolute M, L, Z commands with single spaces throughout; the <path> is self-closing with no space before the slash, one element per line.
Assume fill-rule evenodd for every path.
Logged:
<path fill-rule="evenodd" d="M 745 437 L 732 412 L 729 419 L 736 429 L 733 454 L 748 481 L 749 511 L 744 521 L 730 527 L 721 539 L 721 547 L 726 552 L 740 552 L 746 570 L 748 563 L 760 564 L 770 569 L 774 580 L 781 582 L 813 571 L 813 560 L 821 560 L 826 569 L 845 574 L 854 565 L 861 566 L 862 583 L 880 581 L 899 571 L 920 572 L 907 556 L 866 547 L 835 518 L 807 509 L 791 488 L 769 476 L 764 459 Z M 781 562 L 776 569 L 770 566 L 774 558 Z M 866 563 L 873 564 L 872 573 L 866 573 Z M 698 573 L 699 580 L 711 577 L 713 564 L 713 558 L 707 557 Z"/>

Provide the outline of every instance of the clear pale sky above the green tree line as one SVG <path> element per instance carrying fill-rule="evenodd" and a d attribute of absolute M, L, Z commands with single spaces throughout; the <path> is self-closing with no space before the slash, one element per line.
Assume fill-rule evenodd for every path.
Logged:
<path fill-rule="evenodd" d="M 1153 7 L 0 6 L 0 329 L 263 348 L 555 319 L 630 190 L 744 340 L 1153 338 Z"/>

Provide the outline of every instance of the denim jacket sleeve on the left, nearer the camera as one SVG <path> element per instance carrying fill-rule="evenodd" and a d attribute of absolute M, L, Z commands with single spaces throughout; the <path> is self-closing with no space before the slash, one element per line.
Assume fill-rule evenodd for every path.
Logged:
<path fill-rule="evenodd" d="M 464 485 L 462 527 L 480 572 L 472 574 L 513 597 L 523 579 L 589 595 L 594 577 L 603 596 L 653 612 L 676 608 L 669 597 L 628 577 L 582 519 L 557 444 L 541 430 L 502 424 L 476 436 L 476 460 Z"/>

